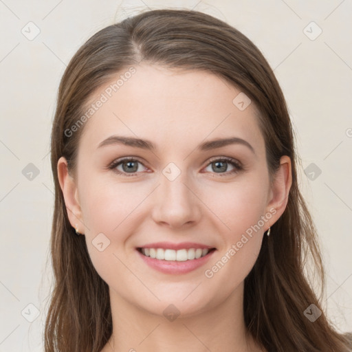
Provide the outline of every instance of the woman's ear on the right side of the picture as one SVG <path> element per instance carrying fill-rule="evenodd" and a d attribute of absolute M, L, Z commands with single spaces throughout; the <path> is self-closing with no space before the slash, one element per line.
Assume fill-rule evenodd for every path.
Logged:
<path fill-rule="evenodd" d="M 280 167 L 274 176 L 272 187 L 270 188 L 266 211 L 272 210 L 272 218 L 268 221 L 268 225 L 272 226 L 281 217 L 287 206 L 289 190 L 292 186 L 292 165 L 291 159 L 287 155 L 283 155 L 280 159 Z M 273 212 L 273 209 L 276 212 Z M 267 229 L 269 226 L 267 226 Z M 266 231 L 265 230 L 265 231 Z"/>

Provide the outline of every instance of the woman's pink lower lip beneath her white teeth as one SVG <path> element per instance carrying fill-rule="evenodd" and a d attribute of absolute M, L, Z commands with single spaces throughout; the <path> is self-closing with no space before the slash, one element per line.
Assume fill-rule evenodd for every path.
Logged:
<path fill-rule="evenodd" d="M 188 272 L 192 272 L 192 270 L 196 270 L 197 268 L 204 265 L 214 254 L 215 250 L 212 250 L 206 256 L 202 256 L 199 259 L 192 259 L 188 261 L 164 261 L 155 258 L 151 258 L 150 256 L 144 256 L 139 250 L 137 253 L 143 259 L 144 263 L 152 267 L 153 269 L 162 272 L 164 274 L 186 274 Z"/>

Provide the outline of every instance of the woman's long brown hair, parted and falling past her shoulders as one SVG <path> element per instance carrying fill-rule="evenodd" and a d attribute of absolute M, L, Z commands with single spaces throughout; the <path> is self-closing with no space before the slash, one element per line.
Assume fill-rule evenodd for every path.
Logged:
<path fill-rule="evenodd" d="M 118 72 L 137 67 L 141 60 L 206 70 L 239 87 L 260 111 L 270 175 L 275 174 L 282 155 L 292 160 L 287 207 L 272 225 L 270 237 L 263 237 L 259 257 L 245 278 L 243 308 L 248 333 L 267 351 L 347 352 L 347 338 L 333 328 L 320 305 L 325 272 L 316 228 L 298 189 L 300 161 L 281 88 L 246 36 L 219 19 L 190 10 L 150 10 L 110 25 L 80 47 L 65 70 L 51 136 L 54 289 L 45 322 L 45 352 L 98 352 L 112 333 L 109 287 L 91 263 L 84 236 L 76 236 L 69 223 L 57 163 L 64 156 L 69 172 L 75 174 L 84 126 L 72 135 L 67 131 L 85 113 L 96 89 Z M 319 278 L 319 296 L 305 273 L 307 263 Z M 314 322 L 305 315 L 310 305 L 322 311 Z"/>

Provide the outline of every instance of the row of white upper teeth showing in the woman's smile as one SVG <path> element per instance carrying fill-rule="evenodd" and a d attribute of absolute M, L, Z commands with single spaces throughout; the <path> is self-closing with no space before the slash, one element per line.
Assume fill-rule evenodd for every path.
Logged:
<path fill-rule="evenodd" d="M 190 261 L 208 254 L 208 249 L 190 248 L 190 250 L 164 250 L 163 248 L 142 248 L 145 256 L 159 259 L 159 261 Z"/>

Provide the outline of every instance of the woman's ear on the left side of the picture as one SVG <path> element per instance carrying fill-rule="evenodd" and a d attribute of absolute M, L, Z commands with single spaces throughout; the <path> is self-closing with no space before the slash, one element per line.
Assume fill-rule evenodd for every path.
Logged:
<path fill-rule="evenodd" d="M 63 197 L 65 199 L 69 222 L 73 228 L 76 228 L 78 232 L 84 234 L 85 231 L 82 219 L 82 211 L 78 199 L 78 189 L 74 177 L 69 175 L 67 160 L 65 157 L 58 159 L 57 171 L 58 181 L 60 183 L 61 190 L 63 191 Z"/>

